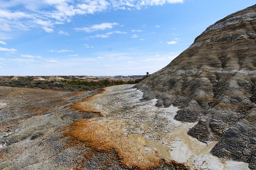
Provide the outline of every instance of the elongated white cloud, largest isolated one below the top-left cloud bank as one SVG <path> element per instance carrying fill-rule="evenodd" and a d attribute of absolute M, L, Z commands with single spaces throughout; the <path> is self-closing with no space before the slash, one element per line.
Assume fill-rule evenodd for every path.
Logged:
<path fill-rule="evenodd" d="M 113 22 L 104 22 L 102 24 L 94 24 L 90 27 L 83 27 L 83 28 L 75 28 L 76 31 L 84 31 L 84 32 L 94 32 L 97 30 L 106 30 L 106 29 L 112 29 L 114 26 L 118 25 L 118 23 Z"/>

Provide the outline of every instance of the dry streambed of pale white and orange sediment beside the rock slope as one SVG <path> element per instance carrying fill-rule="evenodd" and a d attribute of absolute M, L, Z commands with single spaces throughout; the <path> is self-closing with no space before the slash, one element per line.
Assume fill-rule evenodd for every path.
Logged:
<path fill-rule="evenodd" d="M 125 167 L 158 167 L 161 160 L 185 163 L 192 169 L 249 170 L 244 162 L 223 161 L 206 145 L 186 132 L 196 123 L 178 122 L 177 107 L 156 107 L 156 99 L 145 101 L 132 85 L 105 88 L 73 107 L 100 116 L 75 122 L 66 132 L 98 151 L 114 149 Z"/>

